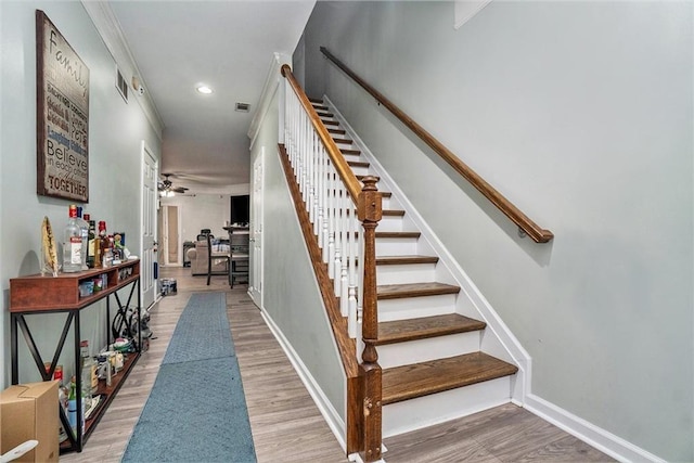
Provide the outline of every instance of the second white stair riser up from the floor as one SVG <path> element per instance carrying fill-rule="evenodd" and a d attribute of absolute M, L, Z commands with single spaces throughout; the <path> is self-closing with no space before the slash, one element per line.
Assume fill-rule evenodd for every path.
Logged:
<path fill-rule="evenodd" d="M 473 331 L 378 346 L 378 364 L 381 368 L 389 369 L 477 352 L 480 336 L 479 331 Z"/>

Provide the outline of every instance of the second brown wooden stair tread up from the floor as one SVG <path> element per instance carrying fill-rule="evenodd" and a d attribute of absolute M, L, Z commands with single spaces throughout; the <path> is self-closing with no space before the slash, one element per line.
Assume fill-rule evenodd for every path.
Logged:
<path fill-rule="evenodd" d="M 468 333 L 484 330 L 486 326 L 487 323 L 483 321 L 459 313 L 381 322 L 378 323 L 378 340 L 375 344 L 376 346 L 382 346 L 406 340 Z"/>

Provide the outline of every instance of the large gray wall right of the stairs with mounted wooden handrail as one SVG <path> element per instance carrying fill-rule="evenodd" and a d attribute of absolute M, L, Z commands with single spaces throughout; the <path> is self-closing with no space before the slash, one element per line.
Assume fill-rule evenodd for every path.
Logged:
<path fill-rule="evenodd" d="M 319 2 L 326 93 L 532 357 L 532 394 L 694 460 L 691 2 Z M 327 47 L 555 239 L 500 213 L 322 57 Z M 446 198 L 446 201 L 442 201 Z"/>

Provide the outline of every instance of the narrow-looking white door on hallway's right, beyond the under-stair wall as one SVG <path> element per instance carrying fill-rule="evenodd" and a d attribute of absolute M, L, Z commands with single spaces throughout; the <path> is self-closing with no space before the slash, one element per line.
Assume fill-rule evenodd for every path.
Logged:
<path fill-rule="evenodd" d="M 262 185 L 265 146 L 253 164 L 253 210 L 250 216 L 250 281 L 248 293 L 262 307 Z"/>

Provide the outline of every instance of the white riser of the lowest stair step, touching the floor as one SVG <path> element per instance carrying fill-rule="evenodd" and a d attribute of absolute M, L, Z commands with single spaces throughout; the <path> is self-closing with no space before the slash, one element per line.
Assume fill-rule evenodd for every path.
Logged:
<path fill-rule="evenodd" d="M 383 437 L 467 416 L 510 401 L 511 385 L 506 376 L 390 403 L 383 408 Z"/>

